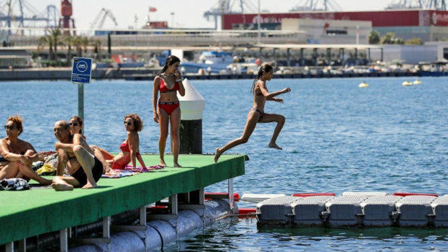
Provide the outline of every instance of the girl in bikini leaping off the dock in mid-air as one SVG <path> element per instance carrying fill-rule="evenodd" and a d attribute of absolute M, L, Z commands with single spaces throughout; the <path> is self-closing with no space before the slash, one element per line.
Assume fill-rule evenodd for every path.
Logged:
<path fill-rule="evenodd" d="M 266 101 L 275 101 L 283 103 L 283 99 L 274 97 L 277 95 L 291 92 L 291 89 L 285 88 L 281 91 L 269 93 L 266 87 L 266 81 L 271 80 L 272 76 L 273 76 L 272 67 L 270 65 L 264 64 L 260 67 L 260 69 L 258 70 L 257 78 L 254 80 L 251 89 L 251 92 L 254 94 L 254 106 L 249 110 L 249 114 L 247 114 L 247 122 L 246 126 L 244 127 L 243 134 L 241 135 L 241 137 L 236 138 L 227 145 L 221 148 L 216 148 L 216 154 L 214 158 L 215 162 L 218 161 L 219 156 L 221 156 L 223 152 L 237 145 L 246 143 L 249 140 L 249 137 L 252 134 L 252 132 L 254 132 L 257 123 L 271 123 L 271 122 L 277 123 L 277 126 L 274 129 L 274 134 L 272 135 L 271 138 L 271 142 L 269 142 L 269 147 L 282 150 L 282 148 L 279 147 L 275 143 L 275 141 L 277 140 L 277 136 L 282 130 L 283 125 L 285 124 L 285 117 L 277 114 L 264 113 L 264 105 Z"/>

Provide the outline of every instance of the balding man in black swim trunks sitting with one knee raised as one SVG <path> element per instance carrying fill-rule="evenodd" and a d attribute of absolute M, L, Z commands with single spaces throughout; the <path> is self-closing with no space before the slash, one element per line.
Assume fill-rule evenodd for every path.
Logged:
<path fill-rule="evenodd" d="M 64 191 L 78 186 L 82 186 L 82 189 L 97 187 L 96 182 L 103 174 L 103 165 L 94 156 L 85 138 L 79 133 L 71 135 L 66 121 L 54 124 L 54 136 L 59 142 L 54 144 L 58 152 L 58 176 L 53 179 L 53 188 Z M 68 162 L 70 165 L 67 165 Z M 69 177 L 62 176 L 66 166 L 71 175 Z"/>

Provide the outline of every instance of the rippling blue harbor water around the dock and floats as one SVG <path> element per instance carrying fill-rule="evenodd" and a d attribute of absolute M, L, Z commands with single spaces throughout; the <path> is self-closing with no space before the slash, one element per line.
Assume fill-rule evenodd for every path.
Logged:
<path fill-rule="evenodd" d="M 358 88 L 362 80 L 370 87 Z M 448 193 L 448 78 L 422 78 L 422 85 L 402 87 L 405 80 L 413 81 L 337 78 L 268 82 L 270 91 L 292 89 L 281 96 L 284 104 L 266 105 L 267 113 L 286 117 L 277 141 L 284 150 L 267 147 L 275 125 L 258 124 L 247 144 L 228 152 L 250 158 L 246 174 L 234 180 L 235 191 Z M 252 105 L 251 80 L 192 83 L 206 99 L 203 151 L 213 153 L 241 135 Z M 55 121 L 77 114 L 77 86 L 68 81 L 0 82 L 0 89 L 0 120 L 21 115 L 21 137 L 38 151 L 53 149 Z M 149 81 L 94 81 L 87 85 L 88 143 L 117 152 L 126 138 L 124 115 L 137 113 L 145 123 L 140 150 L 156 153 L 159 130 L 152 119 L 151 92 Z M 166 161 L 172 164 L 172 160 Z M 226 191 L 227 184 L 206 190 Z M 257 230 L 255 219 L 225 220 L 167 250 L 204 249 L 442 251 L 448 250 L 448 230 Z"/>

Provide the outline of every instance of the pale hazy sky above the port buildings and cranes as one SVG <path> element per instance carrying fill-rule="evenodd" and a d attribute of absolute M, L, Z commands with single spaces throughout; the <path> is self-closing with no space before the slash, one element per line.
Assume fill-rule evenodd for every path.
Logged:
<path fill-rule="evenodd" d="M 22 0 L 24 1 L 24 0 Z M 258 0 L 246 0 L 257 4 Z M 44 12 L 47 5 L 55 5 L 60 8 L 60 0 L 26 0 L 37 10 Z M 101 8 L 109 9 L 116 17 L 118 26 L 113 21 L 106 19 L 103 29 L 128 28 L 135 25 L 141 27 L 146 23 L 149 7 L 157 8 L 157 12 L 150 13 L 152 21 L 168 21 L 170 26 L 180 28 L 211 28 L 214 27 L 212 18 L 207 21 L 203 13 L 216 6 L 217 0 L 73 0 L 73 17 L 77 27 L 89 29 Z M 238 3 L 239 1 L 233 0 Z M 287 12 L 300 2 L 297 0 L 260 0 L 261 10 L 269 12 Z M 333 0 L 343 10 L 382 10 L 392 0 Z M 396 1 L 395 1 L 396 2 Z M 253 10 L 257 6 L 251 5 Z M 237 4 L 235 4 L 235 9 Z M 25 12 L 26 13 L 26 12 Z M 174 15 L 171 15 L 174 13 Z"/>

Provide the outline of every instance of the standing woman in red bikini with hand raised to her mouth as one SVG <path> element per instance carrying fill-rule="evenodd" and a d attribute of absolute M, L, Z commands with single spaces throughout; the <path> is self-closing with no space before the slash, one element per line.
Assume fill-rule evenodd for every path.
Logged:
<path fill-rule="evenodd" d="M 160 127 L 159 155 L 160 165 L 162 166 L 166 166 L 163 154 L 165 153 L 166 138 L 168 137 L 168 126 L 171 124 L 174 167 L 182 167 L 178 162 L 180 146 L 180 107 L 177 91 L 179 91 L 181 96 L 184 96 L 185 89 L 182 85 L 181 74 L 178 70 L 179 65 L 179 58 L 171 55 L 166 58 L 163 69 L 154 78 L 152 104 L 154 122 L 158 123 Z"/>

